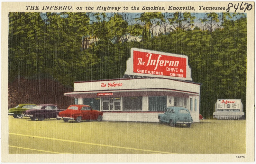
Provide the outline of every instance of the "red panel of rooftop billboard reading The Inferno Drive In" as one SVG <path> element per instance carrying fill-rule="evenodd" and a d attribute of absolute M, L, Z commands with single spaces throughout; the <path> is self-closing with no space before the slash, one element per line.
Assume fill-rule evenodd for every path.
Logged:
<path fill-rule="evenodd" d="M 186 78 L 186 58 L 133 51 L 133 72 Z"/>

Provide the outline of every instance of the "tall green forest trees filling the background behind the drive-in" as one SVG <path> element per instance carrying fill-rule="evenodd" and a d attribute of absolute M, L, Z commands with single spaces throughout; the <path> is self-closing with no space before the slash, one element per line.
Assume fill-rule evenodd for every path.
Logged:
<path fill-rule="evenodd" d="M 217 99 L 241 99 L 246 113 L 247 18 L 242 13 L 10 12 L 8 45 L 9 107 L 48 103 L 49 90 L 63 106 L 65 98 L 59 99 L 75 81 L 123 78 L 134 47 L 187 55 L 193 82 L 202 84 L 204 117 L 212 118 Z M 21 85 L 21 79 L 34 81 Z M 56 86 L 47 79 L 62 88 L 47 90 Z M 34 82 L 38 89 L 31 90 Z"/>

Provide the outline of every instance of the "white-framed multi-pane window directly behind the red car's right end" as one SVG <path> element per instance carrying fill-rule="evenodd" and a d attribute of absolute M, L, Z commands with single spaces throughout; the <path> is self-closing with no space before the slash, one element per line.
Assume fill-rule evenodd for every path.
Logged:
<path fill-rule="evenodd" d="M 121 99 L 102 98 L 102 110 L 121 110 Z"/>

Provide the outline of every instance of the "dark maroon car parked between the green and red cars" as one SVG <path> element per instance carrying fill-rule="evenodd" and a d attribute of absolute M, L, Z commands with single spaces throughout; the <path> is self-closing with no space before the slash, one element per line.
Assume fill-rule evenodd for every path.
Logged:
<path fill-rule="evenodd" d="M 63 111 L 64 109 L 59 109 L 57 105 L 53 104 L 40 104 L 34 106 L 32 109 L 26 110 L 23 112 L 22 116 L 30 117 L 31 120 L 38 119 L 42 121 L 46 118 L 57 118 L 59 112 Z M 60 120 L 57 118 L 57 120 Z"/>

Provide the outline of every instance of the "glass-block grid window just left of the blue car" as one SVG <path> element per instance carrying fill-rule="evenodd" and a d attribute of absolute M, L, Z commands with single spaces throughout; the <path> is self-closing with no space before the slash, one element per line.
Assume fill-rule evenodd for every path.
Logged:
<path fill-rule="evenodd" d="M 166 96 L 149 96 L 149 111 L 164 111 Z"/>

